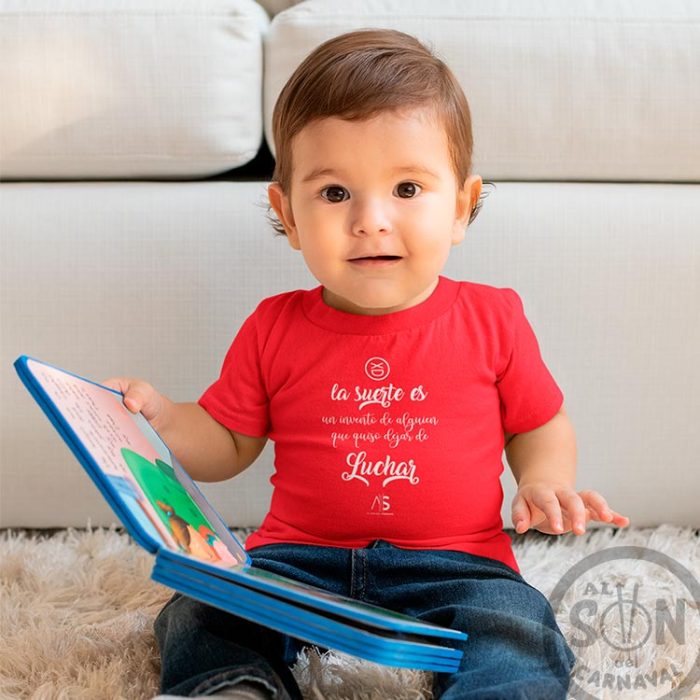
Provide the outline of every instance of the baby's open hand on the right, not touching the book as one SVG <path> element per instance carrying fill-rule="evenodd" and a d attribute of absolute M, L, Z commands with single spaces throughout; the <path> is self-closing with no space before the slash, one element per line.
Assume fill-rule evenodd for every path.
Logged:
<path fill-rule="evenodd" d="M 572 530 L 583 535 L 586 524 L 597 520 L 627 527 L 629 518 L 611 510 L 597 491 L 579 491 L 570 486 L 544 482 L 521 483 L 511 508 L 518 534 L 534 528 L 546 535 L 561 535 Z"/>

